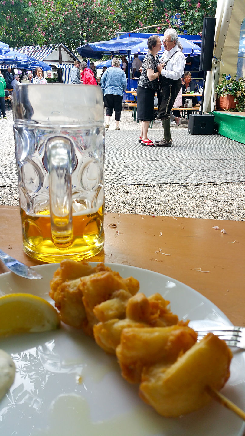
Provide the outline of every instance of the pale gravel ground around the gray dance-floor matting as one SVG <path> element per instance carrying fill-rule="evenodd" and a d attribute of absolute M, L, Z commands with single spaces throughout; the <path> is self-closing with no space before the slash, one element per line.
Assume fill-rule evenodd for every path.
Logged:
<path fill-rule="evenodd" d="M 131 110 L 122 111 L 120 128 L 140 130 L 140 124 L 133 122 L 131 114 Z M 0 123 L 1 148 L 6 157 L 14 150 L 13 112 L 7 110 L 7 120 Z M 114 123 L 112 116 L 112 129 Z M 159 129 L 162 129 L 160 123 L 153 123 L 153 130 Z M 179 127 L 171 126 L 171 129 L 187 129 L 187 120 L 183 119 Z M 3 154 L 1 161 L 0 172 L 4 171 Z M 0 181 L 0 204 L 19 204 L 16 183 L 1 186 Z M 245 183 L 106 186 L 105 211 L 242 221 L 245 219 Z"/>

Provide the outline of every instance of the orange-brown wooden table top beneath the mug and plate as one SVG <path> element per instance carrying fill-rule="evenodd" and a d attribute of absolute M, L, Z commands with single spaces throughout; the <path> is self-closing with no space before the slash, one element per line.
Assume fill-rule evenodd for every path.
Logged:
<path fill-rule="evenodd" d="M 91 260 L 124 263 L 173 277 L 206 296 L 233 324 L 245 326 L 243 221 L 108 213 L 104 227 L 104 251 Z M 222 228 L 226 234 L 221 234 Z M 28 266 L 42 263 L 22 249 L 17 207 L 0 206 L 0 248 Z M 169 255 L 162 255 L 160 248 Z M 0 262 L 2 272 L 7 268 Z"/>

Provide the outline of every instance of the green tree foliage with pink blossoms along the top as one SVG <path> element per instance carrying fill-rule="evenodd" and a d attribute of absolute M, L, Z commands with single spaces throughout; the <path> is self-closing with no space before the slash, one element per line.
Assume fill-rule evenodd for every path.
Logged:
<path fill-rule="evenodd" d="M 177 29 L 173 16 L 182 14 L 179 33 L 202 31 L 204 17 L 213 17 L 216 0 L 1 0 L 0 40 L 10 46 L 65 42 L 75 52 L 87 41 L 102 41 L 115 31 L 162 33 Z M 177 29 L 178 31 L 178 29 Z"/>

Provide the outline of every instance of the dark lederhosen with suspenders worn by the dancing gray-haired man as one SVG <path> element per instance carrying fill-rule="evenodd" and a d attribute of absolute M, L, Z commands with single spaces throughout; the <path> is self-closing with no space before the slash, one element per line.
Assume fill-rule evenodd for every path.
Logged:
<path fill-rule="evenodd" d="M 174 56 L 174 54 L 171 56 L 171 58 Z M 170 61 L 171 58 L 169 58 L 167 62 Z M 164 64 L 163 68 L 166 68 L 167 62 Z M 157 87 L 159 118 L 169 119 L 170 111 L 173 109 L 174 101 L 180 92 L 180 86 L 181 78 L 174 80 L 160 74 Z"/>

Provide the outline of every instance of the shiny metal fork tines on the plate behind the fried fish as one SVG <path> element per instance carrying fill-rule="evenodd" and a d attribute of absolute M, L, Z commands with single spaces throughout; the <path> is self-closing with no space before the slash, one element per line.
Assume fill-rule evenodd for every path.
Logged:
<path fill-rule="evenodd" d="M 229 347 L 238 347 L 245 350 L 245 327 L 214 327 L 196 330 L 196 332 L 198 335 L 197 341 L 200 341 L 206 334 L 213 333 L 223 339 Z"/>

